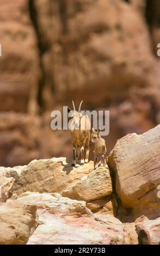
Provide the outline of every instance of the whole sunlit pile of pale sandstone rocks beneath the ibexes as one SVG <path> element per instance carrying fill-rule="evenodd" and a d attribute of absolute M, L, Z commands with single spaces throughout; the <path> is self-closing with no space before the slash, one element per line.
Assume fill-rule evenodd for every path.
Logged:
<path fill-rule="evenodd" d="M 119 139 L 109 169 L 65 157 L 1 167 L 0 243 L 159 244 L 159 129 Z"/>

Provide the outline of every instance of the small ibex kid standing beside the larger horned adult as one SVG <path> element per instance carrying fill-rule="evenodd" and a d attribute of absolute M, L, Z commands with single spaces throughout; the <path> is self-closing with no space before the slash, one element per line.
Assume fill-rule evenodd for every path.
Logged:
<path fill-rule="evenodd" d="M 107 167 L 106 157 L 105 157 L 105 154 L 107 153 L 106 142 L 104 141 L 103 138 L 101 138 L 100 131 L 101 131 L 100 128 L 97 131 L 95 131 L 95 129 L 92 128 L 92 133 L 91 133 L 91 143 L 95 144 L 94 169 L 98 167 L 99 156 L 101 156 L 101 166 Z"/>

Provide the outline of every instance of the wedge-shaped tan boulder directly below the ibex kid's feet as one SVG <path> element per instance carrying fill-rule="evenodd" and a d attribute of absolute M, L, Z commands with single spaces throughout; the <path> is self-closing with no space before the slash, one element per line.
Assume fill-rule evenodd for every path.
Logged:
<path fill-rule="evenodd" d="M 71 199 L 84 200 L 89 202 L 110 196 L 112 194 L 112 181 L 109 169 L 99 167 L 88 175 L 73 184 L 68 190 L 62 192 L 64 197 Z"/>

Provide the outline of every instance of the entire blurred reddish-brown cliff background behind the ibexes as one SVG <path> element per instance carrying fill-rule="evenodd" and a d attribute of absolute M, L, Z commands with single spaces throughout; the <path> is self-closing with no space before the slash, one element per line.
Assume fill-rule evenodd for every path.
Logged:
<path fill-rule="evenodd" d="M 0 166 L 72 156 L 53 109 L 109 109 L 116 139 L 160 121 L 160 3 L 0 0 Z"/>

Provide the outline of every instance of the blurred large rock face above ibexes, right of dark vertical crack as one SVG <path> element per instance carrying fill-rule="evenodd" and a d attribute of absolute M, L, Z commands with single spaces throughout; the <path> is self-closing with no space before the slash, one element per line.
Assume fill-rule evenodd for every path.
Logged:
<path fill-rule="evenodd" d="M 79 100 L 80 93 L 84 100 L 96 105 L 105 99 L 120 98 L 119 90 L 124 87 L 128 94 L 132 86 L 151 86 L 154 58 L 149 33 L 132 5 L 117 0 L 42 0 L 34 1 L 34 7 L 41 44 L 48 46 L 42 65 L 45 76 L 54 79 L 56 100 L 69 101 L 76 95 Z"/>

